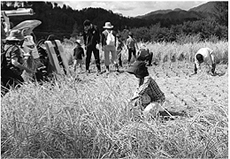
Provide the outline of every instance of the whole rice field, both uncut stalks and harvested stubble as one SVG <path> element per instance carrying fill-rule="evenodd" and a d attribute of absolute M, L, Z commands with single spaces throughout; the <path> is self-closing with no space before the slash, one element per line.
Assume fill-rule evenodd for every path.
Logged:
<path fill-rule="evenodd" d="M 166 54 L 176 44 L 168 45 L 148 44 L 155 57 L 160 48 Z M 193 49 L 198 45 L 203 46 Z M 214 45 L 221 61 L 227 57 L 226 45 Z M 170 52 L 189 49 L 178 47 Z M 72 46 L 65 48 L 71 56 Z M 129 99 L 136 78 L 126 72 L 96 76 L 92 64 L 89 75 L 25 84 L 1 99 L 1 157 L 228 158 L 228 65 L 220 62 L 217 76 L 207 75 L 205 66 L 190 76 L 190 60 L 163 57 L 149 73 L 165 93 L 164 107 L 184 110 L 187 117 L 133 121 Z"/>

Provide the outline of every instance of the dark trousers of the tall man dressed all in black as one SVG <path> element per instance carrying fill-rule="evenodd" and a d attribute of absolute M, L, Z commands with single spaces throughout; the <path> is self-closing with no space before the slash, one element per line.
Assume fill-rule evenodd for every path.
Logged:
<path fill-rule="evenodd" d="M 94 58 L 95 58 L 97 69 L 100 71 L 101 70 L 101 66 L 100 66 L 99 50 L 95 46 L 89 46 L 86 49 L 86 64 L 85 64 L 86 70 L 89 70 L 89 65 L 90 65 L 90 60 L 91 60 L 92 52 L 94 54 Z"/>

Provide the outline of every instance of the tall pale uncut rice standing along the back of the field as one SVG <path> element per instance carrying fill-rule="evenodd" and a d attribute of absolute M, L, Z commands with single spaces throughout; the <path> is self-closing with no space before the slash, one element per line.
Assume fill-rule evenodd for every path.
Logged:
<path fill-rule="evenodd" d="M 138 44 L 140 46 L 140 44 Z M 175 61 L 193 61 L 195 53 L 202 47 L 211 48 L 215 55 L 217 63 L 226 64 L 228 62 L 228 42 L 219 41 L 217 43 L 213 42 L 195 42 L 195 43 L 146 43 L 146 46 L 151 52 L 153 52 L 153 61 L 156 63 L 162 62 L 175 62 Z M 73 49 L 75 45 L 65 44 L 64 48 L 66 50 L 66 56 L 69 61 L 69 64 L 72 64 L 73 60 Z M 123 62 L 126 63 L 128 59 L 127 50 L 122 52 Z M 100 48 L 100 59 L 103 63 L 104 53 Z M 92 63 L 94 63 L 94 56 L 92 55 Z"/>

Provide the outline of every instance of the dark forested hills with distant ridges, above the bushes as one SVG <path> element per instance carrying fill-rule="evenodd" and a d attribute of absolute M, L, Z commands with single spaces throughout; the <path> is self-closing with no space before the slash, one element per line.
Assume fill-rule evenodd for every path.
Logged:
<path fill-rule="evenodd" d="M 219 1 L 208 2 L 188 11 L 181 10 L 180 8 L 158 10 L 138 17 L 124 17 L 121 14 L 116 14 L 103 8 L 73 10 L 66 5 L 63 5 L 61 8 L 55 2 L 22 1 L 21 3 L 23 3 L 24 7 L 32 8 L 36 14 L 33 16 L 12 17 L 10 20 L 14 25 L 27 19 L 41 20 L 42 24 L 35 31 L 37 34 L 44 36 L 50 33 L 67 37 L 73 34 L 80 34 L 83 30 L 82 24 L 85 19 L 91 20 L 93 24 L 98 26 L 99 30 L 103 29 L 106 21 L 110 21 L 115 26 L 115 30 L 129 30 L 132 28 L 150 27 L 156 24 L 160 24 L 160 27 L 170 28 L 172 25 L 183 24 L 187 21 L 192 22 L 213 17 L 221 19 L 223 17 L 219 15 L 218 7 L 221 4 Z M 16 8 L 13 1 L 1 1 L 1 9 L 10 10 Z M 225 22 L 226 26 L 228 25 L 227 17 L 223 17 L 222 21 Z"/>

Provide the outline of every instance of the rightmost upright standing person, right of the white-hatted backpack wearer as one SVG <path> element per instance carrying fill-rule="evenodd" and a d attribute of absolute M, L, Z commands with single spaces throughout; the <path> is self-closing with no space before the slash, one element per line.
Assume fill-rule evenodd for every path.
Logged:
<path fill-rule="evenodd" d="M 126 40 L 126 46 L 128 48 L 128 64 L 130 65 L 132 54 L 136 59 L 136 50 L 138 49 L 137 42 L 133 38 L 133 33 L 131 32 L 129 32 L 128 39 Z"/>

